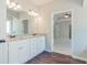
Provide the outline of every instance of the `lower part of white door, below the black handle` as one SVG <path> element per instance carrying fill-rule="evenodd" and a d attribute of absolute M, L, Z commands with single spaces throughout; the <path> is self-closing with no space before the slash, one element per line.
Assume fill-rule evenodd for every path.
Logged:
<path fill-rule="evenodd" d="M 0 64 L 8 64 L 8 44 L 0 42 Z"/>

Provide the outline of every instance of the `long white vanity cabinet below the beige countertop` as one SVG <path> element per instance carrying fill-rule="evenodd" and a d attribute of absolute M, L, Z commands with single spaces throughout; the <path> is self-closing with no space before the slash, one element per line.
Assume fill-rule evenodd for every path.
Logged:
<path fill-rule="evenodd" d="M 45 51 L 45 36 L 9 42 L 9 64 L 22 64 Z"/>

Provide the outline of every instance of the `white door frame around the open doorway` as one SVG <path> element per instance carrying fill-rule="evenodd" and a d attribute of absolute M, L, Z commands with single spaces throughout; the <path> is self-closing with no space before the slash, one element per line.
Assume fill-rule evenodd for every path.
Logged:
<path fill-rule="evenodd" d="M 55 11 L 55 12 L 52 13 L 52 45 L 51 45 L 52 52 L 54 52 L 54 15 L 63 13 L 63 12 L 67 12 L 67 11 L 72 12 L 72 30 L 73 30 L 73 24 L 74 24 L 73 23 L 73 11 L 74 11 L 74 9 L 63 10 L 63 11 Z M 72 36 L 72 45 L 73 45 L 73 36 Z M 73 46 L 72 46 L 72 48 L 73 48 Z M 72 53 L 73 53 L 73 50 L 72 50 Z M 72 53 L 70 53 L 70 55 L 72 55 Z"/>

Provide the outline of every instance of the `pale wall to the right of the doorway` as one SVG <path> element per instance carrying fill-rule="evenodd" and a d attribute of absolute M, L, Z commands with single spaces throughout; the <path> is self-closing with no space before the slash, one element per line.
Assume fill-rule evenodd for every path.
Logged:
<path fill-rule="evenodd" d="M 73 15 L 73 55 L 84 59 L 79 55 L 87 50 L 87 0 L 83 8 L 74 10 Z"/>

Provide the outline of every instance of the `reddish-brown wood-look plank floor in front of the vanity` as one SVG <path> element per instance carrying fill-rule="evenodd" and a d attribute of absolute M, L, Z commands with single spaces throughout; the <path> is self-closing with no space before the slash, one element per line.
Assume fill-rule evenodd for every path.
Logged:
<path fill-rule="evenodd" d="M 86 62 L 75 59 L 68 55 L 43 52 L 25 64 L 86 64 Z"/>

